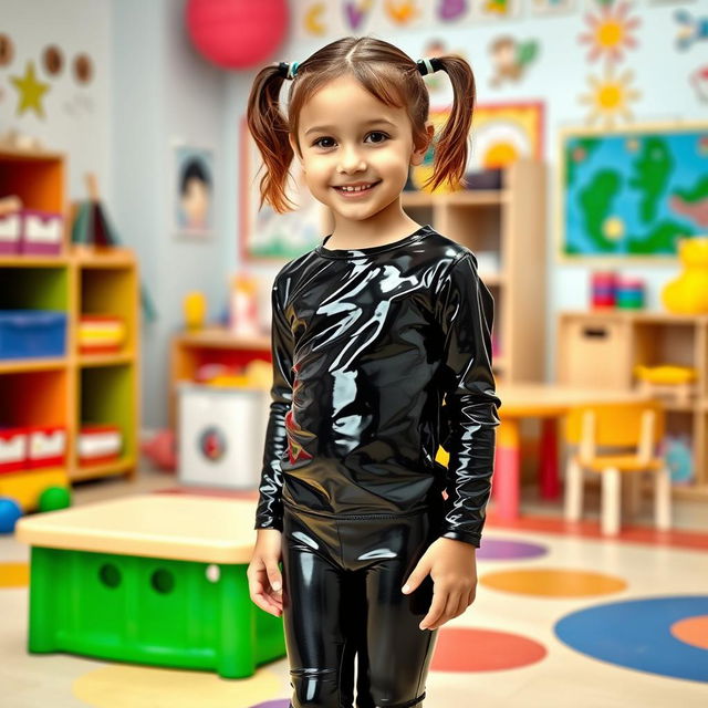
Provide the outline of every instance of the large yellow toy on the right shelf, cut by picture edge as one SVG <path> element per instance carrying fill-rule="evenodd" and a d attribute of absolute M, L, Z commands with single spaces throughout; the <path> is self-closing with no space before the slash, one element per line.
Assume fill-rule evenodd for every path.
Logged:
<path fill-rule="evenodd" d="M 679 239 L 678 257 L 684 272 L 662 291 L 664 306 L 676 314 L 708 312 L 708 236 Z"/>

